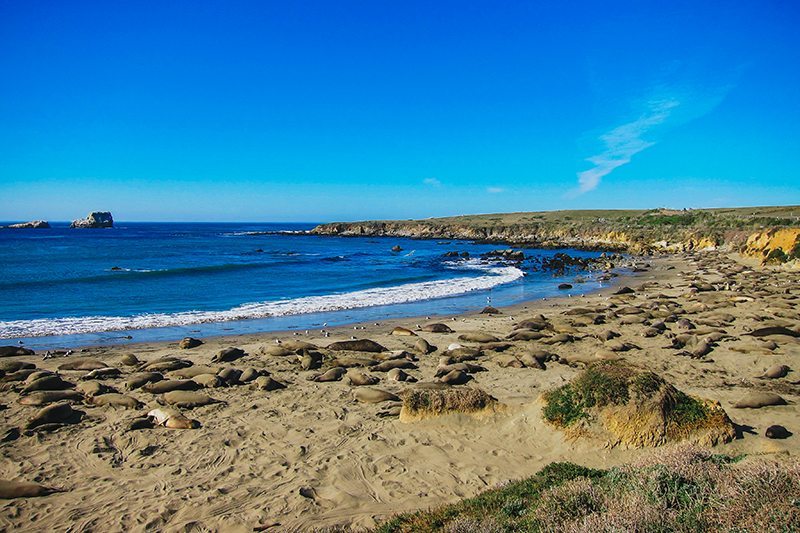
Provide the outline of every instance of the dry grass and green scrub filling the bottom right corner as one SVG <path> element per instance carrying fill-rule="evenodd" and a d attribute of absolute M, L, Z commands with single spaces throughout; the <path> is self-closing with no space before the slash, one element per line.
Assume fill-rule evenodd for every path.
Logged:
<path fill-rule="evenodd" d="M 486 528 L 480 529 L 482 524 Z M 400 515 L 378 528 L 384 533 L 798 530 L 798 460 L 743 460 L 693 445 L 605 471 L 553 463 L 531 478 Z"/>

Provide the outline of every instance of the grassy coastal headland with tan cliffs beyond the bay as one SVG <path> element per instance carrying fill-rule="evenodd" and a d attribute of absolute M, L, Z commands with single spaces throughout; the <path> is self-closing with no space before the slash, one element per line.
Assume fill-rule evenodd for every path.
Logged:
<path fill-rule="evenodd" d="M 311 233 L 419 239 L 469 239 L 543 248 L 684 252 L 723 248 L 764 256 L 764 247 L 787 246 L 800 231 L 800 207 L 697 210 L 595 210 L 468 215 L 425 220 L 337 222 Z M 756 234 L 772 232 L 757 239 Z M 775 232 L 783 232 L 777 233 Z M 777 235 L 777 237 L 775 237 Z M 751 238 L 749 240 L 749 238 Z M 777 239 L 777 241 L 775 240 Z M 773 242 L 775 241 L 775 242 Z M 792 241 L 792 242 L 796 242 Z M 759 249 L 759 245 L 762 248 Z M 797 247 L 785 249 L 787 259 Z M 793 252 L 794 251 L 794 252 Z M 769 252 L 767 252 L 767 255 Z"/>

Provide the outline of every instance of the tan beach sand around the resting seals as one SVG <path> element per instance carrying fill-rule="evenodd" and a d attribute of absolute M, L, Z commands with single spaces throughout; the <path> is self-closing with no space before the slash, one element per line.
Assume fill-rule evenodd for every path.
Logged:
<path fill-rule="evenodd" d="M 306 378 L 318 371 L 302 371 L 297 356 L 263 355 L 265 348 L 276 344 L 276 338 L 324 347 L 351 336 L 372 339 L 390 350 L 413 352 L 418 337 L 393 336 L 391 330 L 395 326 L 415 329 L 417 324 L 431 322 L 444 322 L 455 333 L 419 332 L 439 347 L 433 354 L 418 355 L 418 369 L 406 370 L 420 381 L 433 379 L 440 352 L 449 344 L 477 346 L 459 341 L 459 334 L 485 332 L 504 338 L 516 323 L 541 313 L 557 330 L 570 332 L 576 340 L 555 345 L 517 341 L 503 355 L 545 349 L 562 358 L 591 357 L 598 351 L 607 352 L 612 343 L 633 344 L 639 349 L 615 355 L 660 374 L 687 393 L 722 403 L 740 426 L 741 435 L 718 446 L 719 453 L 798 454 L 800 437 L 772 440 L 764 431 L 772 424 L 800 431 L 800 388 L 792 384 L 800 376 L 796 372 L 774 380 L 756 376 L 776 364 L 798 366 L 800 339 L 745 335 L 766 324 L 797 328 L 798 274 L 743 266 L 716 253 L 647 261 L 650 268 L 646 271 L 619 281 L 635 289 L 624 296 L 612 294 L 618 289 L 615 286 L 585 297 L 528 302 L 502 309 L 499 315 L 409 318 L 355 326 L 364 329 L 352 325 L 333 328 L 327 338 L 319 331 L 308 336 L 265 333 L 203 339 L 203 345 L 187 350 L 179 349 L 177 342 L 92 348 L 80 355 L 90 355 L 124 372 L 120 378 L 102 382 L 135 397 L 144 407 L 130 410 L 79 404 L 75 408 L 85 412 L 79 424 L 0 443 L 0 478 L 64 489 L 45 497 L 0 500 L 0 528 L 253 531 L 271 524 L 270 531 L 334 525 L 369 528 L 395 513 L 454 502 L 531 475 L 552 461 L 609 467 L 647 453 L 597 441 L 571 441 L 542 421 L 540 395 L 577 375 L 580 364 L 551 361 L 546 370 L 501 368 L 496 354 L 487 351 L 473 362 L 488 370 L 474 374 L 467 386 L 479 387 L 507 405 L 503 413 L 482 419 L 456 414 L 402 423 L 396 417 L 378 416 L 385 405 L 354 401 L 354 387 L 347 379 L 308 381 Z M 736 272 L 741 268 L 744 270 Z M 691 289 L 695 281 L 721 290 L 696 292 Z M 665 334 L 643 337 L 647 325 L 633 322 L 637 317 L 645 320 L 644 314 L 613 316 L 605 310 L 609 304 L 615 304 L 612 309 L 616 311 L 640 305 L 663 310 L 665 302 L 680 306 L 679 318 L 692 321 L 698 337 L 720 330 L 729 337 L 719 340 L 708 355 L 692 358 L 680 355 L 680 349 L 666 348 L 670 340 Z M 611 318 L 604 324 L 584 324 L 583 315 L 563 314 L 576 307 L 604 309 L 600 314 Z M 723 317 L 725 321 L 720 322 L 721 314 L 731 315 L 732 321 Z M 623 319 L 632 323 L 623 324 Z M 685 333 L 674 322 L 667 326 L 675 334 Z M 594 337 L 606 330 L 621 336 L 608 342 Z M 242 348 L 248 355 L 220 366 L 265 369 L 287 388 L 269 392 L 247 385 L 206 389 L 204 392 L 225 403 L 184 410 L 201 428 L 125 431 L 136 414 L 159 407 L 159 397 L 141 390 L 125 391 L 126 377 L 133 370 L 120 365 L 124 354 L 135 354 L 142 361 L 171 355 L 197 365 L 210 364 L 211 358 L 227 347 Z M 30 361 L 52 370 L 77 356 L 3 361 Z M 85 373 L 63 371 L 61 375 L 78 383 Z M 389 381 L 385 373 L 372 374 L 381 378 L 375 386 L 384 390 L 398 393 L 414 386 Z M 789 405 L 733 407 L 752 390 L 776 392 Z M 24 427 L 38 409 L 20 405 L 18 398 L 17 392 L 0 392 L 0 403 L 7 407 L 2 411 L 3 435 L 11 428 Z"/>

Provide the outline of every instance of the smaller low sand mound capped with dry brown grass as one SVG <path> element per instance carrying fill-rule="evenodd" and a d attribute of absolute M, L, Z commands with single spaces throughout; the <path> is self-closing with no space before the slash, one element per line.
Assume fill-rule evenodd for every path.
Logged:
<path fill-rule="evenodd" d="M 403 395 L 400 420 L 422 420 L 450 413 L 491 414 L 500 406 L 495 398 L 481 389 L 411 389 Z"/>

